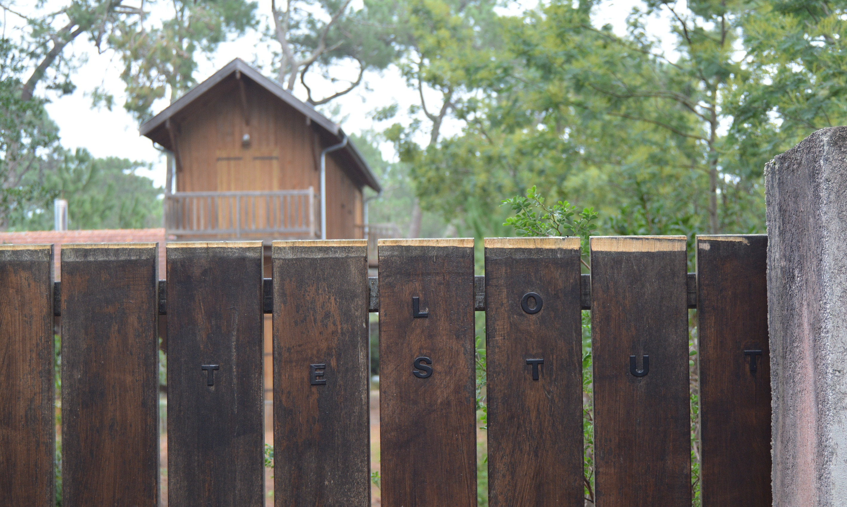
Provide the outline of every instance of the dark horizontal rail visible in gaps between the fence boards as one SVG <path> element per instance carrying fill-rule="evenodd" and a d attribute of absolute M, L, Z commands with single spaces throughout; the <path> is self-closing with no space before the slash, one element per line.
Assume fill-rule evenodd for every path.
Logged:
<path fill-rule="evenodd" d="M 686 287 L 686 304 L 689 308 L 697 307 L 697 273 L 688 273 Z M 158 312 L 168 315 L 167 280 L 158 281 Z M 274 279 L 263 278 L 262 311 L 274 313 Z M 583 310 L 591 309 L 591 275 L 581 275 L 579 279 L 579 300 Z M 62 282 L 53 282 L 53 315 L 61 317 Z M 473 310 L 485 311 L 485 276 L 473 277 Z M 368 311 L 379 311 L 379 278 L 368 277 Z"/>

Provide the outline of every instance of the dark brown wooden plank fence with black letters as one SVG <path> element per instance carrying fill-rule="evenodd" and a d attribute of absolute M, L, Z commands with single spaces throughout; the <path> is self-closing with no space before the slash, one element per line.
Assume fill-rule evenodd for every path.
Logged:
<path fill-rule="evenodd" d="M 689 308 L 702 505 L 771 504 L 767 236 L 0 246 L 0 505 L 158 504 L 167 315 L 169 502 L 263 505 L 262 319 L 274 318 L 277 506 L 370 504 L 368 311 L 379 311 L 382 504 L 477 503 L 474 311 L 485 311 L 490 505 L 584 504 L 581 311 L 593 339 L 596 505 L 691 502 Z M 164 464 L 161 464 L 163 466 Z"/>

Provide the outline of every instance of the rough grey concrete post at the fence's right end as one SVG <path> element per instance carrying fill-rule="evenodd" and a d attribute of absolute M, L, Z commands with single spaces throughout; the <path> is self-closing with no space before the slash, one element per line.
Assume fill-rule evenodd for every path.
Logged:
<path fill-rule="evenodd" d="M 765 168 L 772 488 L 779 507 L 847 503 L 847 127 Z"/>

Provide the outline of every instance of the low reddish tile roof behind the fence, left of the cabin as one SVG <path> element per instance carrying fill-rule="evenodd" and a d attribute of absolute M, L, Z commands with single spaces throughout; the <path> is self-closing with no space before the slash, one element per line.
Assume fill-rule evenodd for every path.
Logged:
<path fill-rule="evenodd" d="M 158 243 L 159 278 L 165 273 L 164 229 L 97 229 L 0 231 L 0 243 L 13 245 L 55 245 L 55 279 L 59 279 L 60 251 L 65 243 Z"/>

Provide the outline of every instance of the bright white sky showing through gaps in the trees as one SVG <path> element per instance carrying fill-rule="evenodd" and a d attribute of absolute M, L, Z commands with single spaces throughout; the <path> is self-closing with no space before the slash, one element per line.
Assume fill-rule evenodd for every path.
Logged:
<path fill-rule="evenodd" d="M 25 10 L 26 8 L 22 7 L 25 3 L 25 0 L 19 0 L 16 7 Z M 267 25 L 270 0 L 259 0 L 258 4 L 257 12 L 261 18 L 261 25 Z M 598 25 L 611 23 L 617 33 L 623 34 L 626 30 L 626 16 L 637 4 L 639 4 L 638 0 L 609 0 L 603 3 L 595 13 L 595 22 Z M 532 8 L 534 5 L 536 5 L 535 0 L 523 0 L 501 12 L 502 14 L 518 14 L 523 8 Z M 167 7 L 167 2 L 159 3 L 153 14 L 167 15 L 163 12 L 163 9 Z M 19 19 L 16 20 L 12 14 L 7 14 L 7 21 L 8 25 L 5 28 L 8 30 L 14 30 L 15 25 L 20 25 Z M 667 36 L 668 26 L 667 16 L 655 19 L 649 25 L 650 31 L 656 36 L 662 36 L 663 42 L 666 42 L 663 44 L 666 51 L 673 49 L 668 45 L 672 40 L 672 37 Z M 7 31 L 7 36 L 14 37 L 14 33 Z M 63 146 L 70 149 L 85 147 L 95 157 L 125 157 L 152 163 L 152 171 L 147 175 L 154 180 L 155 185 L 163 185 L 165 179 L 163 156 L 153 148 L 152 141 L 138 135 L 136 120 L 123 108 L 124 83 L 119 79 L 121 71 L 119 58 L 113 52 L 98 54 L 91 42 L 87 40 L 75 41 L 74 45 L 74 51 L 85 55 L 87 59 L 73 78 L 77 86 L 76 91 L 66 96 L 46 94 L 52 101 L 47 105 L 47 111 L 53 121 L 58 124 Z M 273 41 L 262 41 L 257 32 L 248 33 L 238 40 L 221 44 L 211 60 L 200 58 L 195 77 L 197 82 L 201 82 L 233 58 L 242 58 L 248 63 L 255 61 L 264 67 L 262 70 L 266 75 L 270 75 L 269 63 L 273 49 L 275 49 Z M 65 51 L 68 49 L 66 48 Z M 356 70 L 355 68 L 346 69 L 346 74 L 349 74 L 352 79 L 356 75 Z M 344 71 L 345 69 L 339 69 L 339 72 Z M 317 75 L 314 76 L 316 80 L 317 77 Z M 112 111 L 108 111 L 105 107 L 91 108 L 91 98 L 87 94 L 98 85 L 114 94 L 116 104 Z M 316 82 L 313 86 L 314 95 L 321 96 L 322 91 L 327 91 L 325 86 L 323 88 L 322 90 L 322 86 Z M 36 91 L 36 93 L 42 95 L 43 91 Z M 306 96 L 299 83 L 295 95 L 302 99 Z M 332 119 L 340 120 L 346 132 L 358 133 L 368 129 L 385 129 L 397 119 L 407 123 L 406 115 L 399 115 L 398 118 L 379 125 L 374 125 L 371 120 L 370 113 L 374 109 L 389 106 L 395 102 L 400 106 L 401 112 L 406 111 L 410 105 L 418 103 L 418 94 L 417 91 L 407 87 L 397 69 L 389 68 L 382 73 L 365 74 L 363 85 L 346 96 L 335 99 L 323 110 L 326 113 L 329 107 L 337 105 L 340 114 Z M 430 108 L 440 106 L 437 94 L 434 93 L 428 97 L 428 105 Z M 166 106 L 166 101 L 159 101 L 154 104 L 153 112 L 158 113 Z M 444 135 L 454 135 L 460 128 L 461 125 L 456 121 L 446 122 L 442 132 Z M 386 158 L 393 157 L 387 143 L 381 148 Z"/>

